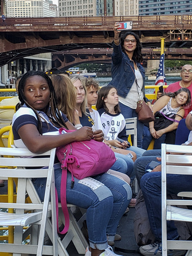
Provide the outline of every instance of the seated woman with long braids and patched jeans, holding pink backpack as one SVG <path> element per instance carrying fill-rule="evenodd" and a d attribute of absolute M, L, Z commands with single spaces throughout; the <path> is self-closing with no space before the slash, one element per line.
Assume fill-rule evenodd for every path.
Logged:
<path fill-rule="evenodd" d="M 89 141 L 91 138 L 102 141 L 102 133 L 93 132 L 91 127 L 76 130 L 58 110 L 52 81 L 43 72 L 29 71 L 22 76 L 19 82 L 19 100 L 20 104 L 12 121 L 16 147 L 27 147 L 31 152 L 42 153 L 74 141 Z M 56 135 L 59 134 L 60 127 L 75 131 Z M 71 174 L 68 172 L 66 201 L 87 209 L 90 247 L 85 255 L 115 256 L 108 248 L 107 237 L 114 240 L 120 218 L 131 200 L 130 185 L 107 173 L 94 176 L 94 179 L 86 177 L 78 180 L 74 177 L 74 180 L 74 187 L 71 188 Z M 94 189 L 89 185 L 89 180 L 94 184 Z M 45 180 L 36 179 L 34 185 L 43 199 Z M 60 163 L 55 164 L 55 185 L 60 201 Z"/>

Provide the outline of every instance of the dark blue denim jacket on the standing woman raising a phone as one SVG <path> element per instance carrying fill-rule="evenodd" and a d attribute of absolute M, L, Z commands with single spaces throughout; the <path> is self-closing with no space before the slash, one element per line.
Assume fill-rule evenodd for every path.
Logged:
<path fill-rule="evenodd" d="M 111 67 L 111 75 L 112 81 L 110 85 L 114 86 L 117 91 L 118 95 L 126 98 L 127 94 L 130 92 L 131 86 L 135 81 L 135 75 L 133 74 L 132 68 L 134 70 L 133 61 L 127 56 L 126 53 L 122 51 L 122 47 L 116 46 L 114 42 L 112 43 L 114 48 L 114 52 L 112 53 L 112 67 Z M 143 77 L 143 88 L 141 91 L 143 92 L 144 101 L 147 102 L 147 98 L 145 97 L 145 70 L 140 63 L 136 63 L 137 68 L 141 72 Z M 132 68 L 131 68 L 131 67 Z"/>

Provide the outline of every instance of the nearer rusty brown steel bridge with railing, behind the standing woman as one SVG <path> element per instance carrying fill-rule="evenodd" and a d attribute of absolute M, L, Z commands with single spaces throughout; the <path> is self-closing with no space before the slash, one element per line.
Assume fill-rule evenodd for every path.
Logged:
<path fill-rule="evenodd" d="M 123 20 L 132 20 L 144 48 L 160 48 L 161 38 L 166 48 L 192 46 L 192 15 L 7 18 L 0 24 L 0 66 L 43 52 L 111 48 L 114 23 Z"/>

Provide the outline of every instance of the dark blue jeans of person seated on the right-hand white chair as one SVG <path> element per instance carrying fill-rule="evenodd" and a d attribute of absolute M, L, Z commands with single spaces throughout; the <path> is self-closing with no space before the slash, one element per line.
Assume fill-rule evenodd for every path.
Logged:
<path fill-rule="evenodd" d="M 167 192 L 169 195 L 181 191 L 191 191 L 192 175 L 167 175 Z M 157 240 L 162 238 L 161 229 L 161 172 L 149 172 L 141 178 L 141 190 L 147 207 L 149 222 Z M 178 237 L 174 221 L 167 221 L 168 240 Z"/>

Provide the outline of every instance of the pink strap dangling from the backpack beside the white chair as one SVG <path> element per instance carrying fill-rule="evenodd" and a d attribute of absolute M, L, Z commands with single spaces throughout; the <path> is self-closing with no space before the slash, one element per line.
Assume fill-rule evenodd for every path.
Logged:
<path fill-rule="evenodd" d="M 65 234 L 66 232 L 68 232 L 68 229 L 69 229 L 69 212 L 68 212 L 68 207 L 66 205 L 66 179 L 67 179 L 67 170 L 62 170 L 60 196 L 61 196 L 61 208 L 65 217 L 65 227 L 61 231 L 59 230 L 59 223 L 58 223 L 58 217 L 59 217 L 58 195 L 57 195 L 57 189 L 55 189 L 56 190 L 55 195 L 56 195 L 57 232 L 59 234 Z"/>

